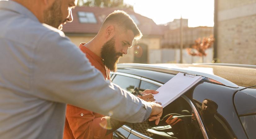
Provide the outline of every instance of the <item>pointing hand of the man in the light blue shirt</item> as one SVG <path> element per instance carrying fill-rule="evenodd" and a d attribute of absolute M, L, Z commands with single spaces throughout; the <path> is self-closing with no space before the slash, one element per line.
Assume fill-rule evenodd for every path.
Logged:
<path fill-rule="evenodd" d="M 148 119 L 149 121 L 153 121 L 155 120 L 155 124 L 158 125 L 159 121 L 160 121 L 160 117 L 163 114 L 163 107 L 155 102 L 151 103 L 151 107 L 152 107 L 152 112 L 150 114 L 150 118 Z"/>

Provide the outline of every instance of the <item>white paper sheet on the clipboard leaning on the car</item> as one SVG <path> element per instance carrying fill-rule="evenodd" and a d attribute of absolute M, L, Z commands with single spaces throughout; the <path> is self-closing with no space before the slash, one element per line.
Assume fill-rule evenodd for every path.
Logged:
<path fill-rule="evenodd" d="M 161 102 L 162 106 L 165 107 L 202 79 L 202 76 L 194 76 L 190 74 L 184 76 L 183 73 L 178 73 L 156 90 L 159 91 L 159 93 L 154 94 L 154 99 L 157 102 Z"/>

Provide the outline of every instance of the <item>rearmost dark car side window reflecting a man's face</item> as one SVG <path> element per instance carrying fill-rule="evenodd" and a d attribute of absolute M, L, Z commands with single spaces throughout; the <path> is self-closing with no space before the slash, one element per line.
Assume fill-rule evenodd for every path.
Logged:
<path fill-rule="evenodd" d="M 236 113 L 232 101 L 233 91 L 228 92 L 226 88 L 226 86 L 202 82 L 195 86 L 192 92 L 193 101 L 199 110 L 209 138 L 237 138 L 228 123 L 231 121 L 230 123 L 236 124 L 236 127 L 240 124 L 239 119 L 235 120 L 236 116 L 233 116 Z"/>

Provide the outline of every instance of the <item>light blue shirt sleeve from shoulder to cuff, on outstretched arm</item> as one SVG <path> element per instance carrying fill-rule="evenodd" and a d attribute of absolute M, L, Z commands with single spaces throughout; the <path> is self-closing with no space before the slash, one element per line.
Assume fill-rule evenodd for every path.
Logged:
<path fill-rule="evenodd" d="M 149 117 L 149 103 L 106 81 L 84 53 L 60 34 L 50 31 L 38 41 L 31 60 L 32 95 L 111 114 L 126 122 L 141 122 Z"/>

